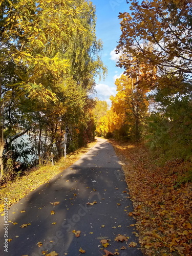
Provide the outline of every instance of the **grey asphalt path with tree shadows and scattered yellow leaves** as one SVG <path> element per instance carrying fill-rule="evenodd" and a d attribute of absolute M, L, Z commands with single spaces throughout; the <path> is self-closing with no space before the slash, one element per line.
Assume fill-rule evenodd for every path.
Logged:
<path fill-rule="evenodd" d="M 82 248 L 88 256 L 105 255 L 104 249 L 120 256 L 142 256 L 135 220 L 128 215 L 132 211 L 113 146 L 98 138 L 72 166 L 12 205 L 8 223 L 1 216 L 1 255 L 41 256 L 55 251 L 59 256 L 78 256 Z M 74 230 L 81 231 L 80 236 Z M 119 234 L 127 241 L 115 241 Z M 108 247 L 102 239 L 107 239 Z M 123 246 L 126 249 L 120 249 Z"/>

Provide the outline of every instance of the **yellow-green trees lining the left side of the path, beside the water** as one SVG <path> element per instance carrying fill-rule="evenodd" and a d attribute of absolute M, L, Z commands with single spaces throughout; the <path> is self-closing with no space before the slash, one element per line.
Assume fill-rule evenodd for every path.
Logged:
<path fill-rule="evenodd" d="M 105 72 L 95 7 L 80 1 L 0 3 L 0 165 L 3 181 L 94 138 L 95 77 Z M 15 143 L 28 134 L 28 141 Z M 9 152 L 9 153 L 8 153 Z M 28 159 L 28 156 L 32 159 Z M 20 170 L 22 171 L 22 170 Z"/>

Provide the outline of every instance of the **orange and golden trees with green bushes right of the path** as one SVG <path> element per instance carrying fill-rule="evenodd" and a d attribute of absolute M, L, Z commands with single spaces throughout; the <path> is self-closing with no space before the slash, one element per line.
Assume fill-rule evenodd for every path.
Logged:
<path fill-rule="evenodd" d="M 131 0 L 116 52 L 124 74 L 97 134 L 145 141 L 161 159 L 192 155 L 192 2 Z"/>

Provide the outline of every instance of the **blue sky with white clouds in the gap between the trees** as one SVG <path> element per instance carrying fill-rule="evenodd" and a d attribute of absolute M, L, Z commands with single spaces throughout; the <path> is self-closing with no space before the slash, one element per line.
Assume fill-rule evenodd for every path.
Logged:
<path fill-rule="evenodd" d="M 104 65 L 108 68 L 105 80 L 96 79 L 97 96 L 101 100 L 106 100 L 109 105 L 109 97 L 116 94 L 115 79 L 122 73 L 123 69 L 116 67 L 116 57 L 114 49 L 118 45 L 121 35 L 119 12 L 128 12 L 129 4 L 126 0 L 92 0 L 96 6 L 97 39 L 103 42 L 103 50 L 100 53 Z"/>

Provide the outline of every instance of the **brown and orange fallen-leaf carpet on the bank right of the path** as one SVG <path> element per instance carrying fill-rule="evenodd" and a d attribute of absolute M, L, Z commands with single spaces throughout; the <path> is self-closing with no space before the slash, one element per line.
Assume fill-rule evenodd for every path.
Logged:
<path fill-rule="evenodd" d="M 110 140 L 123 170 L 137 220 L 144 255 L 190 256 L 192 251 L 192 185 L 182 183 L 191 162 L 175 160 L 157 166 L 147 148 Z"/>

